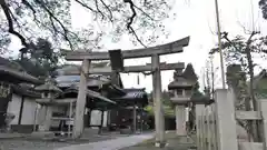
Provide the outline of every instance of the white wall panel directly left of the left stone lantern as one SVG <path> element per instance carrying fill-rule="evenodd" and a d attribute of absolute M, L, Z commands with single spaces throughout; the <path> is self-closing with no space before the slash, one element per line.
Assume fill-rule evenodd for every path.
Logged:
<path fill-rule="evenodd" d="M 36 107 L 34 99 L 24 98 L 21 124 L 34 124 Z"/>

